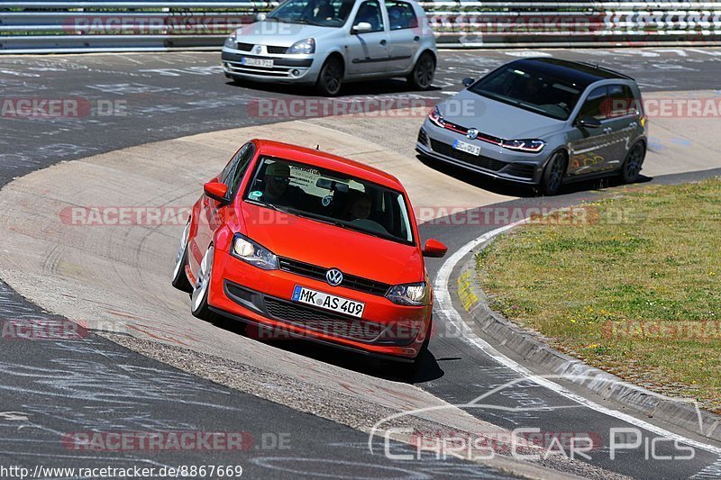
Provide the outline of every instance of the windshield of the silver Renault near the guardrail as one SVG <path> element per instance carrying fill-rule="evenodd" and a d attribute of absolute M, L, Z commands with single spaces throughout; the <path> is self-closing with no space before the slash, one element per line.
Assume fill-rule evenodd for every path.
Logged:
<path fill-rule="evenodd" d="M 341 27 L 348 20 L 353 3 L 353 0 L 288 0 L 268 18 L 285 23 Z"/>

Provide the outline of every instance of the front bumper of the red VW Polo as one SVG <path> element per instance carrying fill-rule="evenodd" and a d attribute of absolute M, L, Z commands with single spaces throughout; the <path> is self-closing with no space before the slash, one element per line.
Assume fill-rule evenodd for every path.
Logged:
<path fill-rule="evenodd" d="M 378 294 L 330 286 L 283 270 L 262 270 L 225 251 L 216 250 L 213 263 L 208 305 L 259 325 L 267 339 L 303 338 L 375 357 L 412 360 L 430 334 L 431 305 L 398 305 Z M 296 285 L 365 303 L 363 318 L 291 302 Z"/>

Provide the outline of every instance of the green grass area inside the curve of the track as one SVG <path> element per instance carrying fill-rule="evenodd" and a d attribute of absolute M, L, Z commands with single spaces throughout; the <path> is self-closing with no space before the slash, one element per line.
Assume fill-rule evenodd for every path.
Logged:
<path fill-rule="evenodd" d="M 590 365 L 721 412 L 721 178 L 583 207 L 598 222 L 525 225 L 477 256 L 491 307 Z"/>

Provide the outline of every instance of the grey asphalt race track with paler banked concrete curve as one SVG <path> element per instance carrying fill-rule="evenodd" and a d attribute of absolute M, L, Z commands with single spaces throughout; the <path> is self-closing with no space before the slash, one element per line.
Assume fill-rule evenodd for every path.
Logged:
<path fill-rule="evenodd" d="M 721 74 L 717 49 L 453 51 L 442 53 L 432 91 L 408 92 L 403 82 L 381 81 L 348 86 L 341 101 L 383 98 L 402 109 L 409 100 L 430 106 L 458 91 L 463 77 L 479 77 L 502 61 L 529 54 L 604 63 L 635 77 L 647 98 L 713 97 Z M 413 152 L 423 119 L 414 113 L 255 114 L 260 102 L 314 97 L 302 89 L 233 86 L 219 73 L 217 61 L 215 53 L 0 58 L 6 98 L 79 98 L 94 108 L 79 118 L 0 117 L 0 278 L 38 305 L 0 284 L 0 318 L 62 325 L 67 317 L 96 331 L 75 340 L 0 340 L 2 465 L 222 464 L 240 465 L 244 475 L 254 477 L 547 477 L 546 468 L 555 469 L 554 475 L 596 478 L 721 475 L 721 445 L 698 432 L 655 419 L 620 419 L 618 411 L 634 413 L 602 398 L 581 405 L 499 364 L 457 334 L 432 340 L 432 355 L 410 385 L 382 362 L 297 342 L 263 343 L 240 335 L 233 322 L 197 321 L 187 297 L 169 286 L 181 226 L 62 222 L 59 212 L 71 206 L 188 205 L 203 180 L 254 136 L 317 143 L 387 169 L 431 217 L 443 217 L 449 207 L 577 204 L 613 191 L 607 183 L 592 183 L 543 199 L 424 165 Z M 651 129 L 646 182 L 721 173 L 712 134 L 717 135 L 717 118 L 652 119 Z M 421 230 L 424 238 L 445 242 L 449 257 L 498 226 L 448 223 L 436 218 Z M 443 261 L 428 262 L 433 276 Z M 441 332 L 453 332 L 447 317 L 448 312 L 435 312 Z M 483 404 L 452 406 L 505 384 Z M 574 392 L 572 385 L 564 386 Z M 400 460 L 383 455 L 387 445 L 381 438 L 374 439 L 377 448 L 370 452 L 367 431 L 376 421 L 428 405 L 439 410 L 401 417 L 397 425 L 486 434 L 516 428 L 589 432 L 600 436 L 604 447 L 575 460 L 470 462 L 430 453 Z M 659 459 L 637 448 L 611 459 L 609 429 L 631 427 L 640 427 L 649 443 L 671 431 L 680 443 L 694 446 L 694 455 Z M 87 451 L 62 441 L 90 430 L 243 432 L 248 440 L 234 453 Z M 397 441 L 388 448 L 415 455 L 414 448 Z M 655 453 L 685 452 L 662 442 Z"/>

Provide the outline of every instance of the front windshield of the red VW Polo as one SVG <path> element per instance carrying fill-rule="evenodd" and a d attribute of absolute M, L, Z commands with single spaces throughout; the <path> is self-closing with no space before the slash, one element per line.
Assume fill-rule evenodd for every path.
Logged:
<path fill-rule="evenodd" d="M 245 200 L 282 212 L 414 245 L 404 195 L 361 178 L 262 158 Z"/>

